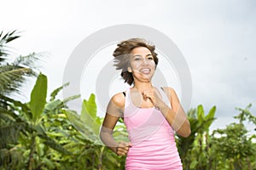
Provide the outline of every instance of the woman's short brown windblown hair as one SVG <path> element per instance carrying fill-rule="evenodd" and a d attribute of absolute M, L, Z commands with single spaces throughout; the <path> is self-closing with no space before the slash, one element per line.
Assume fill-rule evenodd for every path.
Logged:
<path fill-rule="evenodd" d="M 131 50 L 138 47 L 148 48 L 153 55 L 155 66 L 158 64 L 157 54 L 154 52 L 155 46 L 151 42 L 147 42 L 143 38 L 131 38 L 117 44 L 117 48 L 113 51 L 114 66 L 116 70 L 122 70 L 121 77 L 124 78 L 125 82 L 132 84 L 134 82 L 132 73 L 127 71 L 130 66 Z"/>

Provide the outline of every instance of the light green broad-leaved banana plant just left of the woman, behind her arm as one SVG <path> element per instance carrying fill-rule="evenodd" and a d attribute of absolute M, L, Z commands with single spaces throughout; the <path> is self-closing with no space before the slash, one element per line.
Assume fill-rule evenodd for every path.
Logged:
<path fill-rule="evenodd" d="M 84 144 L 82 153 L 86 153 L 80 155 L 84 157 L 84 161 L 82 161 L 83 167 L 86 167 L 86 169 L 125 168 L 125 157 L 116 156 L 111 150 L 108 150 L 99 139 L 102 118 L 96 115 L 94 94 L 91 94 L 88 100 L 84 99 L 80 115 L 70 110 L 63 110 L 63 112 L 73 124 L 73 127 L 82 135 L 82 137 L 79 138 L 80 142 Z M 119 121 L 119 124 L 114 129 L 113 136 L 117 140 L 127 137 L 123 122 Z"/>

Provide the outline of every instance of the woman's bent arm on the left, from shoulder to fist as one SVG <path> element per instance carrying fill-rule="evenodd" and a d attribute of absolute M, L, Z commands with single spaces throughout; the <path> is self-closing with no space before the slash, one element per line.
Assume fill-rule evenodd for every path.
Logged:
<path fill-rule="evenodd" d="M 119 156 L 126 155 L 129 150 L 129 145 L 131 145 L 126 142 L 117 143 L 113 139 L 113 128 L 118 122 L 119 117 L 123 116 L 124 107 L 124 94 L 115 94 L 108 103 L 107 113 L 104 117 L 100 132 L 100 138 L 102 139 L 102 142 Z"/>

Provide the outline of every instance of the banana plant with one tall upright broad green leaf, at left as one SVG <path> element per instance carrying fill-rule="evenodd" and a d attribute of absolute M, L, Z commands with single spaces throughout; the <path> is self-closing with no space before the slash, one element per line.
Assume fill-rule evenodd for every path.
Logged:
<path fill-rule="evenodd" d="M 44 130 L 45 112 L 54 109 L 53 103 L 57 103 L 58 100 L 49 102 L 46 105 L 47 94 L 47 77 L 43 74 L 38 75 L 37 82 L 32 89 L 31 100 L 29 103 L 22 104 L 21 102 L 10 100 L 13 105 L 11 111 L 13 111 L 12 119 L 8 126 L 0 127 L 0 137 L 3 140 L 3 147 L 1 147 L 1 164 L 5 168 L 11 168 L 13 166 L 27 169 L 36 169 L 42 166 L 44 163 L 42 150 L 44 147 L 52 148 L 60 151 L 62 154 L 69 154 L 61 144 L 58 144 L 54 139 L 50 138 Z M 61 108 L 63 107 L 61 103 Z M 56 105 L 55 105 L 56 106 Z M 60 105 L 58 105 L 60 106 Z M 17 113 L 17 114 L 15 114 Z M 1 113 L 3 115 L 4 113 Z M 19 127 L 19 131 L 16 128 Z M 15 134 L 15 138 L 13 137 Z M 10 139 L 15 139 L 10 143 Z M 5 144 L 5 145 L 4 145 Z M 16 156 L 16 153 L 19 153 Z M 22 158 L 17 161 L 15 158 Z"/>

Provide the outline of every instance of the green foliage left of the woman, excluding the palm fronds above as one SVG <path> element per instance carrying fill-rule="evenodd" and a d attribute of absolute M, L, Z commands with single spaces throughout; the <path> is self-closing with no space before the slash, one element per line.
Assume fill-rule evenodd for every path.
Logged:
<path fill-rule="evenodd" d="M 0 169 L 124 169 L 125 157 L 116 156 L 99 139 L 102 118 L 96 116 L 95 95 L 84 99 L 83 109 L 78 115 L 68 110 L 66 103 L 79 95 L 55 99 L 64 86 L 57 88 L 51 99 L 44 103 L 46 96 L 37 94 L 39 88 L 41 92 L 46 92 L 43 89 L 47 88 L 46 82 L 47 77 L 40 74 L 32 89 L 32 99 L 27 104 L 9 99 L 12 108 L 9 116 L 22 126 L 19 130 L 12 127 L 14 132 L 0 133 L 12 139 L 4 140 L 5 145 L 0 150 Z M 35 105 L 40 108 L 36 110 L 36 119 L 33 118 L 35 111 L 32 113 Z M 117 127 L 125 129 L 121 122 Z M 6 127 L 1 128 L 4 131 Z"/>

